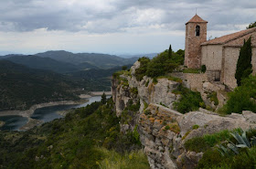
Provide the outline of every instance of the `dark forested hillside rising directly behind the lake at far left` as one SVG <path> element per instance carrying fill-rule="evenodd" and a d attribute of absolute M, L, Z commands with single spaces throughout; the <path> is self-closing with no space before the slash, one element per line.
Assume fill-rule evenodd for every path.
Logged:
<path fill-rule="evenodd" d="M 0 60 L 0 111 L 26 110 L 33 104 L 78 99 L 67 77 Z"/>

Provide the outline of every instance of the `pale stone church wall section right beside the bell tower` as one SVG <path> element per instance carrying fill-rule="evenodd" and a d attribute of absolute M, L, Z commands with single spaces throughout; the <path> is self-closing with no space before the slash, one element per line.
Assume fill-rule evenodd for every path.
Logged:
<path fill-rule="evenodd" d="M 202 46 L 201 65 L 206 65 L 207 70 L 221 70 L 222 45 Z"/>

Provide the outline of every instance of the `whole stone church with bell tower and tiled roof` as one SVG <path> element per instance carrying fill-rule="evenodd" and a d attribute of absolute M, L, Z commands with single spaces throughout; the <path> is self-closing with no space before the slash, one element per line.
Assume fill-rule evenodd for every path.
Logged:
<path fill-rule="evenodd" d="M 185 66 L 207 68 L 209 81 L 220 81 L 230 89 L 237 87 L 235 72 L 244 40 L 251 37 L 253 73 L 256 72 L 256 27 L 207 40 L 208 21 L 193 16 L 186 24 Z"/>

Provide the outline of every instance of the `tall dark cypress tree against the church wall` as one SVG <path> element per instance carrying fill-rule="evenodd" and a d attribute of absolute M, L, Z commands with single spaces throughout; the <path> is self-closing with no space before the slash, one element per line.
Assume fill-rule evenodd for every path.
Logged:
<path fill-rule="evenodd" d="M 237 70 L 235 78 L 237 79 L 238 86 L 240 86 L 241 79 L 248 78 L 252 72 L 251 65 L 251 37 L 245 41 L 240 48 L 240 56 L 237 63 Z"/>

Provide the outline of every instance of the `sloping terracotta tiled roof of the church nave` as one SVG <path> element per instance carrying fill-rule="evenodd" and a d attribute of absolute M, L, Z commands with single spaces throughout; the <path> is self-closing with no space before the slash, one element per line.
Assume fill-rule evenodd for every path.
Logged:
<path fill-rule="evenodd" d="M 212 40 L 208 40 L 207 42 L 202 43 L 201 45 L 223 45 L 223 44 L 227 44 L 230 41 L 232 41 L 232 43 L 230 42 L 230 45 L 240 46 L 243 44 L 243 39 L 245 39 L 244 36 L 247 36 L 253 32 L 256 32 L 256 27 L 246 29 L 246 30 L 241 30 L 240 32 L 229 34 L 227 36 L 214 38 Z M 241 37 L 244 37 L 244 38 L 241 38 Z M 250 37 L 250 36 L 248 36 L 248 37 Z"/>

